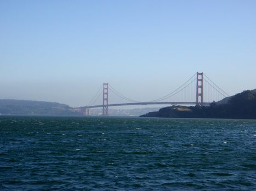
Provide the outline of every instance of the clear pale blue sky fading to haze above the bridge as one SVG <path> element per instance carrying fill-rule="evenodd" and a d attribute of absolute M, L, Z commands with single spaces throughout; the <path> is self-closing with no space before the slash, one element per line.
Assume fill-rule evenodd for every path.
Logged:
<path fill-rule="evenodd" d="M 0 0 L 0 99 L 86 105 L 103 82 L 151 100 L 203 71 L 256 88 L 256 1 Z"/>

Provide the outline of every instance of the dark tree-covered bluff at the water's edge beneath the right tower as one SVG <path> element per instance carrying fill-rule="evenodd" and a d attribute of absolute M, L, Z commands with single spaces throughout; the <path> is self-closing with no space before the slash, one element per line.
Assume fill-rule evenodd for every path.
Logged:
<path fill-rule="evenodd" d="M 256 119 L 256 92 L 243 91 L 210 106 L 169 106 L 140 117 Z"/>

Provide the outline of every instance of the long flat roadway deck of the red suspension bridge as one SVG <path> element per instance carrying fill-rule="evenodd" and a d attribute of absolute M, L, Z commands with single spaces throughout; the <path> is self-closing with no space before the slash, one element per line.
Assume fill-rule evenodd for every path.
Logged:
<path fill-rule="evenodd" d="M 210 102 L 204 102 L 203 105 L 210 105 Z M 91 105 L 83 106 L 75 109 L 90 109 L 90 108 L 103 108 L 103 106 L 125 106 L 125 105 L 196 105 L 196 102 L 136 102 L 124 104 L 108 104 L 108 105 Z"/>

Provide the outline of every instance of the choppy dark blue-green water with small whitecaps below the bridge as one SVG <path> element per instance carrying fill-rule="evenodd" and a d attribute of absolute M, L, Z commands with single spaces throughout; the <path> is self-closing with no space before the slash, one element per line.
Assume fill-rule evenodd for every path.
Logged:
<path fill-rule="evenodd" d="M 0 190 L 256 190 L 256 121 L 2 116 Z"/>

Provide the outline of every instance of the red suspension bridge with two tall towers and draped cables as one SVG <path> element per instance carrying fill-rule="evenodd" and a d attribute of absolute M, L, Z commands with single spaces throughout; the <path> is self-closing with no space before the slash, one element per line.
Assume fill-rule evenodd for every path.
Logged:
<path fill-rule="evenodd" d="M 124 103 L 109 103 L 109 93 L 115 94 L 115 96 L 125 100 Z M 97 100 L 102 96 L 102 104 L 95 104 Z M 108 109 L 112 106 L 127 106 L 127 105 L 209 105 L 213 101 L 217 102 L 225 97 L 229 96 L 219 86 L 217 86 L 209 77 L 204 73 L 196 73 L 190 77 L 183 85 L 179 86 L 174 91 L 166 94 L 161 98 L 150 100 L 147 102 L 139 102 L 134 99 L 130 99 L 123 96 L 116 91 L 109 83 L 103 83 L 99 91 L 95 94 L 93 99 L 87 106 L 83 106 L 79 109 L 84 115 L 90 115 L 92 108 L 102 108 L 102 115 L 108 115 Z"/>

